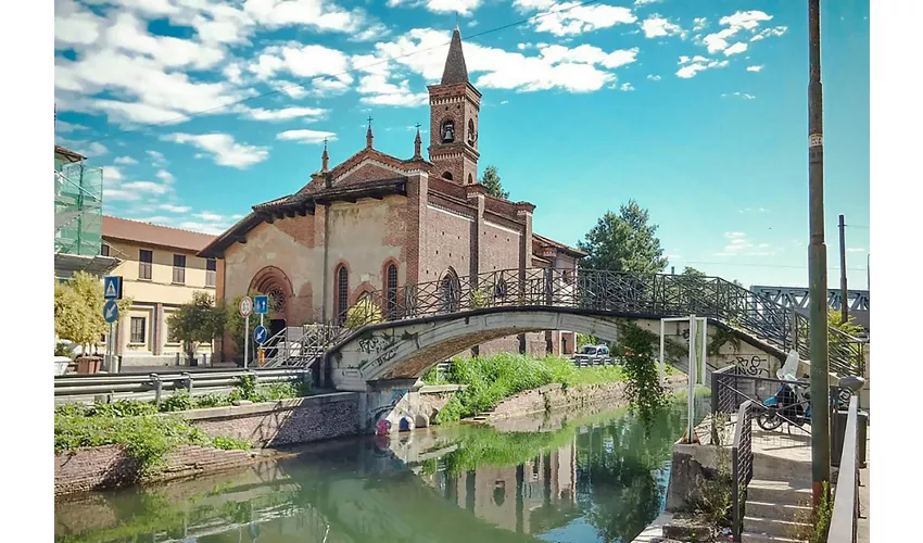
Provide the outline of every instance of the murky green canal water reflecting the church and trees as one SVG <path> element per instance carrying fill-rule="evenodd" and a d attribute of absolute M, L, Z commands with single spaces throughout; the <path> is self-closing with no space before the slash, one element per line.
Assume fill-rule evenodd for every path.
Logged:
<path fill-rule="evenodd" d="M 707 399 L 697 399 L 697 418 Z M 193 480 L 55 504 L 58 542 L 630 542 L 666 503 L 685 401 L 356 438 Z M 527 430 L 541 431 L 521 431 Z"/>

